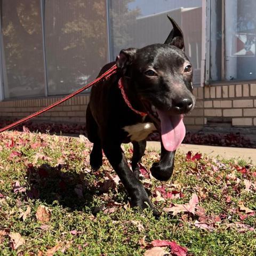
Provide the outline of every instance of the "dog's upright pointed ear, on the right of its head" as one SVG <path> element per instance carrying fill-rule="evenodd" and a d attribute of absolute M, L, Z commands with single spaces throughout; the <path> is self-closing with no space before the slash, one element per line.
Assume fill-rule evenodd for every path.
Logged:
<path fill-rule="evenodd" d="M 167 14 L 168 19 L 171 21 L 173 29 L 171 30 L 169 36 L 165 40 L 164 44 L 170 44 L 178 47 L 179 49 L 185 51 L 183 33 L 178 26 L 178 24 Z"/>

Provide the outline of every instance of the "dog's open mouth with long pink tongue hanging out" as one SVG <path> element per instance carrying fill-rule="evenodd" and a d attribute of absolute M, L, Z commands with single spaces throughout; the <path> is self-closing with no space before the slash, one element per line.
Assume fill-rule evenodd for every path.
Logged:
<path fill-rule="evenodd" d="M 169 111 L 159 110 L 154 105 L 150 105 L 149 102 L 143 102 L 143 105 L 155 123 L 156 129 L 161 133 L 164 148 L 167 151 L 176 150 L 186 134 L 183 114 L 170 114 Z"/>

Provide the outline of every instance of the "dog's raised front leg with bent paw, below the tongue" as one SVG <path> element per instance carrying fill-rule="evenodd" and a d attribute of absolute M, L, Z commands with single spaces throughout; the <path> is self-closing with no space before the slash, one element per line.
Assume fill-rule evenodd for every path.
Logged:
<path fill-rule="evenodd" d="M 161 141 L 161 158 L 158 163 L 154 163 L 150 169 L 151 174 L 157 180 L 166 181 L 172 176 L 174 168 L 175 151 L 167 151 Z"/>

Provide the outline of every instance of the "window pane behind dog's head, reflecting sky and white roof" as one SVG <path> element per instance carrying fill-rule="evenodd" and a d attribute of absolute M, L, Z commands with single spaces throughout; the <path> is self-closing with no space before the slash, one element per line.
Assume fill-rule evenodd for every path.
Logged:
<path fill-rule="evenodd" d="M 201 0 L 110 0 L 111 59 L 127 47 L 164 43 L 171 30 L 169 13 L 183 30 L 185 48 L 194 68 L 194 82 L 200 83 Z"/>

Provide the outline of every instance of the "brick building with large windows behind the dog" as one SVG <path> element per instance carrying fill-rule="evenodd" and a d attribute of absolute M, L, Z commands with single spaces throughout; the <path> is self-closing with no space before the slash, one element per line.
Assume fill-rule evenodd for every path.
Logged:
<path fill-rule="evenodd" d="M 146 4 L 146 2 L 147 4 Z M 185 34 L 196 108 L 187 130 L 256 134 L 253 0 L 3 0 L 0 118 L 17 119 L 82 87 L 125 47 Z M 84 123 L 90 92 L 36 118 Z"/>

